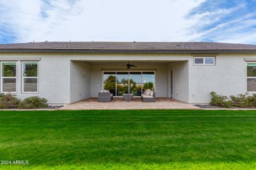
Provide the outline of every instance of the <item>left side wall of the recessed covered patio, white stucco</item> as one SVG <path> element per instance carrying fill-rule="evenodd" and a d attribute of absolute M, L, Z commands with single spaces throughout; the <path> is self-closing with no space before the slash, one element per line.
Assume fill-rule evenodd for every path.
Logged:
<path fill-rule="evenodd" d="M 71 61 L 71 103 L 90 97 L 90 64 Z"/>

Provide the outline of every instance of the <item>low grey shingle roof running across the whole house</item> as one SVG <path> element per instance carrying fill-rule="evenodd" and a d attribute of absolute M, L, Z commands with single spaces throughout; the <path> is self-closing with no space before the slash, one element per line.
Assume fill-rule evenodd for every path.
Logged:
<path fill-rule="evenodd" d="M 58 51 L 64 50 L 250 50 L 256 51 L 256 45 L 230 44 L 219 42 L 29 42 L 17 44 L 0 44 L 0 52 L 12 52 L 26 50 L 26 52 Z"/>

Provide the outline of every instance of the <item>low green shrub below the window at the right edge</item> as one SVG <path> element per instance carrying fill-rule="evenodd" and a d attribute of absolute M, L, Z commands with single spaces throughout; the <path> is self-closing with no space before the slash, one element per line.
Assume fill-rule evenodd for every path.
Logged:
<path fill-rule="evenodd" d="M 232 105 L 240 108 L 253 108 L 253 97 L 248 94 L 238 94 L 237 96 L 230 96 Z M 255 97 L 256 98 L 256 97 Z"/>

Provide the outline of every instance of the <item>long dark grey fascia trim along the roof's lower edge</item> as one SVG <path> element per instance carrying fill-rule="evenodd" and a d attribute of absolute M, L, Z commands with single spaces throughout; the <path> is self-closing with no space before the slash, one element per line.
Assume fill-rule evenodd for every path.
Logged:
<path fill-rule="evenodd" d="M 150 53 L 150 54 L 209 54 L 209 53 L 256 53 L 243 49 L 0 49 L 0 53 Z"/>

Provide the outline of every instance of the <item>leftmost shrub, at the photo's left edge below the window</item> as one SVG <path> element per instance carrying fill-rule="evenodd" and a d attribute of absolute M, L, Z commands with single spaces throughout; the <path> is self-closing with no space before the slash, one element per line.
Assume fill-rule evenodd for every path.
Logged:
<path fill-rule="evenodd" d="M 0 94 L 0 108 L 1 109 L 11 109 L 16 108 L 20 104 L 20 100 L 16 97 L 16 95 L 8 93 L 8 94 Z"/>

